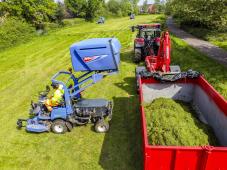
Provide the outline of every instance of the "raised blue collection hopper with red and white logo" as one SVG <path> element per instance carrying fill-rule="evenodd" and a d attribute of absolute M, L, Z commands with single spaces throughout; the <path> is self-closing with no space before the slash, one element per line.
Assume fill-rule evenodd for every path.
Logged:
<path fill-rule="evenodd" d="M 75 71 L 118 71 L 121 44 L 116 38 L 94 38 L 70 47 Z"/>

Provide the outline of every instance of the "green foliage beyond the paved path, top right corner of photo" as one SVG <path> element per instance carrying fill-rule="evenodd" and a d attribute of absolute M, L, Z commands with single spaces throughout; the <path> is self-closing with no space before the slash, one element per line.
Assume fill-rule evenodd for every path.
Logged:
<path fill-rule="evenodd" d="M 167 7 L 181 24 L 226 29 L 226 0 L 169 0 Z"/>

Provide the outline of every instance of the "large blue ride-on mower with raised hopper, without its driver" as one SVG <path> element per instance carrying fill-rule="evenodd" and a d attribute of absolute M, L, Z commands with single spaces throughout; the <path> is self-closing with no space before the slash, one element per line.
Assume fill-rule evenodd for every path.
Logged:
<path fill-rule="evenodd" d="M 75 43 L 70 47 L 72 66 L 76 77 L 69 71 L 56 73 L 51 82 L 63 87 L 63 101 L 51 112 L 45 107 L 50 87 L 39 93 L 38 102 L 31 103 L 30 119 L 18 119 L 17 127 L 28 132 L 49 132 L 63 134 L 76 125 L 93 123 L 95 131 L 109 130 L 113 103 L 105 99 L 84 99 L 81 92 L 104 77 L 118 73 L 120 63 L 120 42 L 116 38 L 95 38 Z M 64 77 L 64 81 L 60 79 Z"/>

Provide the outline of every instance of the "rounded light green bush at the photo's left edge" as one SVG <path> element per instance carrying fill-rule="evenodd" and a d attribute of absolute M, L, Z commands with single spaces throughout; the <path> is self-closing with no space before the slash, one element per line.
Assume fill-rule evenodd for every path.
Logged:
<path fill-rule="evenodd" d="M 25 21 L 7 18 L 0 24 L 0 51 L 26 42 L 35 36 L 35 29 Z"/>

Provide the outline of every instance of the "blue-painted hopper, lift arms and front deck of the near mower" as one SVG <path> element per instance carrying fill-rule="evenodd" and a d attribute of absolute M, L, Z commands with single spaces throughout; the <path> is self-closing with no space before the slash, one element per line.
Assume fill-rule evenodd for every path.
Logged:
<path fill-rule="evenodd" d="M 50 130 L 50 124 L 46 122 L 56 119 L 67 120 L 67 117 L 74 113 L 72 100 L 80 99 L 82 91 L 99 82 L 105 76 L 118 72 L 120 48 L 121 45 L 115 38 L 97 38 L 73 44 L 70 47 L 72 66 L 75 71 L 83 71 L 83 75 L 75 77 L 72 72 L 67 71 L 56 73 L 51 81 L 63 86 L 64 105 L 54 107 L 49 115 L 43 115 L 42 110 L 39 110 L 33 118 L 26 120 L 26 130 L 38 133 L 45 132 Z M 86 57 L 91 57 L 91 60 L 85 62 Z M 63 82 L 58 80 L 61 76 L 69 78 Z M 67 86 L 69 82 L 73 82 L 71 87 Z"/>

